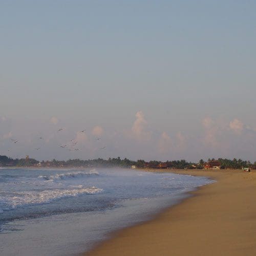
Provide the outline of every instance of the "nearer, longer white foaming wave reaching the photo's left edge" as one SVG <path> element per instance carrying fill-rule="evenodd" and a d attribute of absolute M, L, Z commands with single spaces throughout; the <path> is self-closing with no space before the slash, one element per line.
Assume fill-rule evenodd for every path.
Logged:
<path fill-rule="evenodd" d="M 5 210 L 16 209 L 17 207 L 47 204 L 62 198 L 76 197 L 80 195 L 93 195 L 100 193 L 103 189 L 97 187 L 76 188 L 76 189 L 54 189 L 36 191 L 23 191 L 13 193 L 0 200 L 0 213 Z"/>

